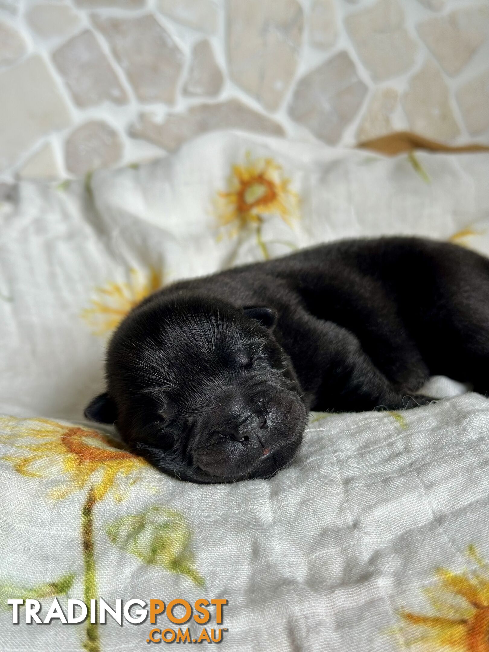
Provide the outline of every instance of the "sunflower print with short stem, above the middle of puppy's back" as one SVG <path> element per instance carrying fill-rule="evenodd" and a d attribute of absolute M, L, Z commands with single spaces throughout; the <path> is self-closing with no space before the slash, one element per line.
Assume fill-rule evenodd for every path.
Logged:
<path fill-rule="evenodd" d="M 256 226 L 258 244 L 268 258 L 261 241 L 264 216 L 278 215 L 288 226 L 301 217 L 300 200 L 291 189 L 291 181 L 273 158 L 255 158 L 246 154 L 244 165 L 233 165 L 228 190 L 217 197 L 218 222 L 230 228 L 230 235 Z"/>

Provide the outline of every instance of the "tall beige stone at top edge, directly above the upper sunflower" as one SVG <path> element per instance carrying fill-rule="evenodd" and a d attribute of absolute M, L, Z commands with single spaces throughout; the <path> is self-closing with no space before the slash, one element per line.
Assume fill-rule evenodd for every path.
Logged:
<path fill-rule="evenodd" d="M 297 0 L 228 0 L 230 76 L 270 111 L 293 80 L 303 27 Z"/>

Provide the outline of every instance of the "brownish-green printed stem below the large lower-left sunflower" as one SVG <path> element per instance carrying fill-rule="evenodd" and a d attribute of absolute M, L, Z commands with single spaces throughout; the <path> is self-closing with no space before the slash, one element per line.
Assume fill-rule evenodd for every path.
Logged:
<path fill-rule="evenodd" d="M 90 600 L 97 597 L 93 542 L 93 507 L 95 503 L 95 494 L 91 487 L 82 509 L 83 601 L 89 609 Z M 86 639 L 83 642 L 83 647 L 87 652 L 100 652 L 97 623 L 91 623 L 90 617 L 87 617 Z"/>

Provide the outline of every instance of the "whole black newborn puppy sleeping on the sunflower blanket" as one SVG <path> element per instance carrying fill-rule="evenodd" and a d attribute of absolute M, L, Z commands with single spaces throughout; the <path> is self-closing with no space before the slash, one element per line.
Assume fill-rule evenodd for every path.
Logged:
<path fill-rule="evenodd" d="M 194 482 L 271 477 L 310 409 L 412 408 L 430 374 L 489 389 L 489 259 L 350 240 L 173 284 L 110 342 L 89 419 Z"/>

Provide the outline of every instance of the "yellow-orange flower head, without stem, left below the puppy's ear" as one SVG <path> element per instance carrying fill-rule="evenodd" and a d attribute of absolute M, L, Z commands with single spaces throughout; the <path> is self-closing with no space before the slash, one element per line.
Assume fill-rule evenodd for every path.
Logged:
<path fill-rule="evenodd" d="M 7 430 L 0 440 L 25 451 L 1 459 L 27 477 L 59 478 L 61 484 L 49 494 L 54 499 L 90 487 L 94 502 L 102 500 L 110 490 L 115 500 L 121 501 L 124 495 L 117 488 L 118 477 L 132 475 L 136 481 L 138 471 L 149 467 L 143 458 L 125 451 L 119 441 L 95 430 L 48 419 L 2 417 L 0 424 Z"/>

